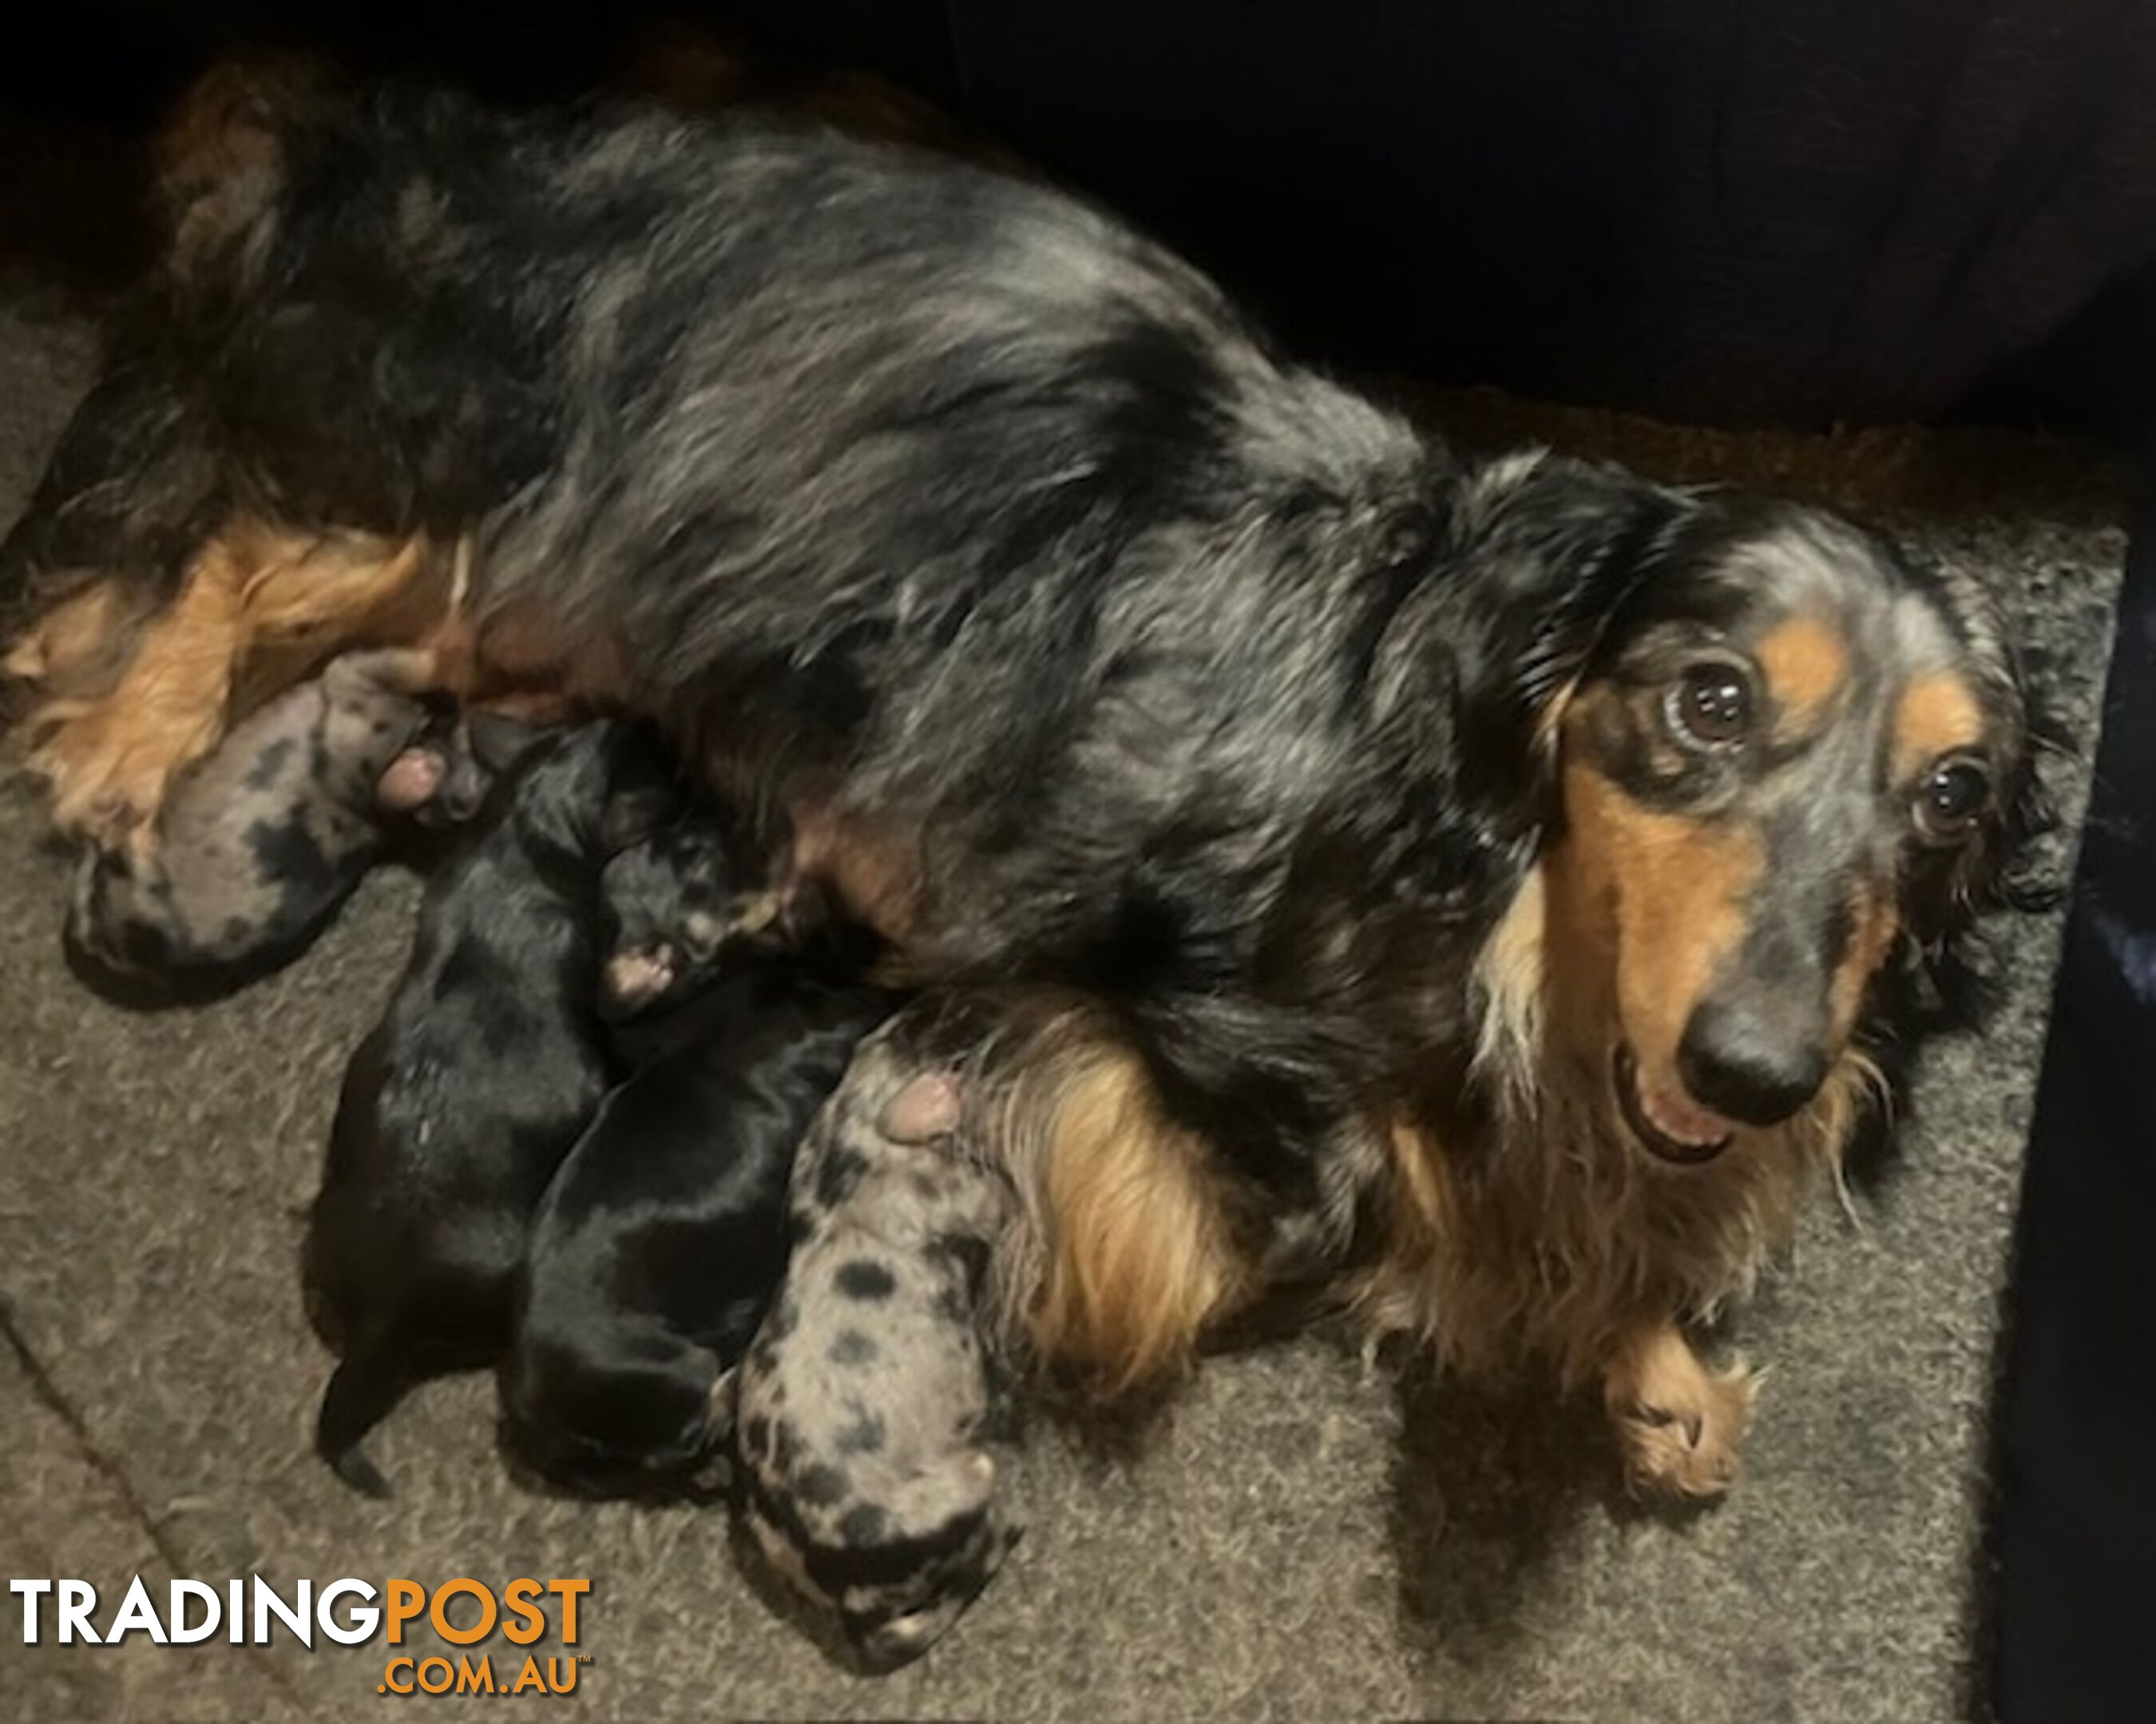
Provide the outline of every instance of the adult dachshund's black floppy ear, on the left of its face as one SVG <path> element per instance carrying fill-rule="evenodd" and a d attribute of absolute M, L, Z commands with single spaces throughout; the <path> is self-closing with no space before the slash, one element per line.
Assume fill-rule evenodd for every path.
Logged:
<path fill-rule="evenodd" d="M 1468 618 L 1453 640 L 1460 787 L 1542 819 L 1565 703 L 1699 500 L 1619 468 L 1509 455 L 1455 513 Z"/>

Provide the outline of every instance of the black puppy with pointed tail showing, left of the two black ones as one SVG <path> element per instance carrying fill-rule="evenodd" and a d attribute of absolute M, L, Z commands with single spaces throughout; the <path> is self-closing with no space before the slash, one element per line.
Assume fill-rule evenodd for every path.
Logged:
<path fill-rule="evenodd" d="M 315 1444 L 349 1485 L 405 1388 L 494 1364 L 530 1213 L 606 1093 L 597 892 L 673 804 L 619 722 L 539 741 L 436 873 L 390 1009 L 354 1054 L 306 1239 L 315 1327 L 343 1362 Z"/>

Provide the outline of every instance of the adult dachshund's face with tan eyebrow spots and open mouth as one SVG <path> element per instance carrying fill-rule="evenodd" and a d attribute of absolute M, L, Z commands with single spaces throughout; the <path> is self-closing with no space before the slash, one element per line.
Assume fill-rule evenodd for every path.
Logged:
<path fill-rule="evenodd" d="M 1848 1075 L 2033 797 L 1984 593 L 1820 511 L 1692 498 L 1552 703 L 1552 1017 L 1628 1134 L 1697 1164 Z"/>

